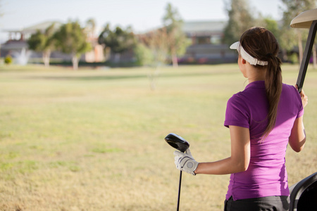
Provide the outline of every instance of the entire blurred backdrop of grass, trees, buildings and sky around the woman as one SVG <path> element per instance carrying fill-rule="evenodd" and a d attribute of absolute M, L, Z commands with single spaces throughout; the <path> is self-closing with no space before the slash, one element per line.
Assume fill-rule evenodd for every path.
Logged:
<path fill-rule="evenodd" d="M 175 210 L 164 137 L 199 162 L 230 156 L 228 98 L 247 86 L 228 46 L 253 26 L 280 43 L 295 84 L 307 29 L 294 0 L 0 0 L 0 210 Z M 307 141 L 287 149 L 290 186 L 316 172 L 316 47 Z M 182 176 L 180 210 L 223 210 L 230 175 Z"/>

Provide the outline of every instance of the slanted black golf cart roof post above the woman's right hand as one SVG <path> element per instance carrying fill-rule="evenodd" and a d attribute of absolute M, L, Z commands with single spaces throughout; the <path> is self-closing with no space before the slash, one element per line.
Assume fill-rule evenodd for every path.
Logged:
<path fill-rule="evenodd" d="M 313 49 L 313 42 L 315 41 L 315 37 L 316 37 L 316 29 L 317 29 L 317 20 L 314 20 L 313 23 L 311 23 L 311 28 L 309 29 L 309 35 L 306 41 L 303 60 L 301 63 L 301 67 L 299 68 L 299 74 L 297 77 L 296 84 L 297 84 L 299 93 L 302 91 L 302 88 L 304 85 L 304 79 L 306 76 L 307 67 L 309 65 L 311 50 Z"/>

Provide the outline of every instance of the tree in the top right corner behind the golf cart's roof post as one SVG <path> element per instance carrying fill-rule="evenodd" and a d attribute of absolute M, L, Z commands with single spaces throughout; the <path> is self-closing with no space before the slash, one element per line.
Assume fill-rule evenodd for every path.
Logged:
<path fill-rule="evenodd" d="M 283 25 L 282 25 L 282 39 L 281 46 L 283 49 L 291 50 L 294 46 L 299 48 L 299 62 L 302 62 L 303 58 L 303 45 L 302 39 L 306 37 L 303 33 L 305 30 L 292 29 L 290 23 L 299 13 L 307 11 L 312 8 L 316 8 L 316 0 L 282 0 L 284 4 L 283 9 Z"/>

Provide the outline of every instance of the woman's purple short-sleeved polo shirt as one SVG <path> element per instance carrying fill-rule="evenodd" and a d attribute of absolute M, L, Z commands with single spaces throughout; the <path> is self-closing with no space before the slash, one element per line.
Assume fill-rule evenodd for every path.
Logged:
<path fill-rule="evenodd" d="M 252 82 L 234 94 L 227 103 L 225 127 L 247 127 L 251 158 L 247 171 L 231 174 L 226 199 L 289 196 L 285 152 L 294 120 L 304 114 L 302 99 L 290 85 L 282 84 L 275 127 L 266 139 L 268 101 L 263 81 Z"/>

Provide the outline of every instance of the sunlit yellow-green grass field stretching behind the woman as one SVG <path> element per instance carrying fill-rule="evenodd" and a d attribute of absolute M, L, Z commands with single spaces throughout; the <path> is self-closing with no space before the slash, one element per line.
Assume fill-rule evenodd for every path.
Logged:
<path fill-rule="evenodd" d="M 295 84 L 297 65 L 284 65 Z M 179 172 L 164 137 L 198 161 L 230 155 L 228 98 L 247 85 L 237 65 L 162 68 L 0 67 L 0 210 L 175 210 Z M 290 185 L 316 172 L 317 72 L 309 69 L 301 153 L 287 149 Z M 223 210 L 228 175 L 183 174 L 181 210 Z"/>

